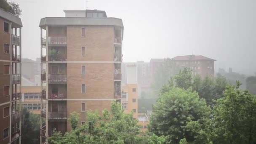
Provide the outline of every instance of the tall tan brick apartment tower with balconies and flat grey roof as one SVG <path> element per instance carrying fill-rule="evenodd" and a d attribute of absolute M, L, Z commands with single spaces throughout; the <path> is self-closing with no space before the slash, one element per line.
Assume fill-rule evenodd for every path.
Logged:
<path fill-rule="evenodd" d="M 121 102 L 123 22 L 105 11 L 64 10 L 66 17 L 41 19 L 42 104 L 40 141 L 46 142 L 53 128 L 71 130 L 71 112 L 107 108 Z M 42 85 L 41 84 L 41 85 Z"/>

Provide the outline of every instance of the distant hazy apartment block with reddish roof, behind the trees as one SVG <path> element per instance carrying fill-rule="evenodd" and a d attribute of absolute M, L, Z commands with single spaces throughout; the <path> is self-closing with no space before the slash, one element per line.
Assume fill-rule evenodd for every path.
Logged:
<path fill-rule="evenodd" d="M 214 61 L 215 59 L 210 59 L 205 56 L 176 56 L 173 58 L 176 61 L 176 64 L 181 67 L 187 67 L 192 69 L 193 75 L 201 75 L 202 77 L 214 76 Z"/>

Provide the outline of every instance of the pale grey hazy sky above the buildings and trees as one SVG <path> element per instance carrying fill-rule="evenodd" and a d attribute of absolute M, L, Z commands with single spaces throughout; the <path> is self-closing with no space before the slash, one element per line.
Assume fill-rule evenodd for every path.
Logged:
<path fill-rule="evenodd" d="M 40 19 L 86 9 L 86 0 L 8 0 L 22 9 L 22 57 L 40 57 Z M 256 72 L 256 0 L 88 0 L 123 19 L 123 61 L 204 55 L 216 67 Z M 216 69 L 217 70 L 217 69 Z"/>

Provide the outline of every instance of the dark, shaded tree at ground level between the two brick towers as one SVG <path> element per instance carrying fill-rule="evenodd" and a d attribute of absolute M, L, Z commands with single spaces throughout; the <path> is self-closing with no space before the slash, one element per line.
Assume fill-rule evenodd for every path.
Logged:
<path fill-rule="evenodd" d="M 22 108 L 21 115 L 21 143 L 22 144 L 38 144 L 40 143 L 40 115 L 35 115 Z"/>

